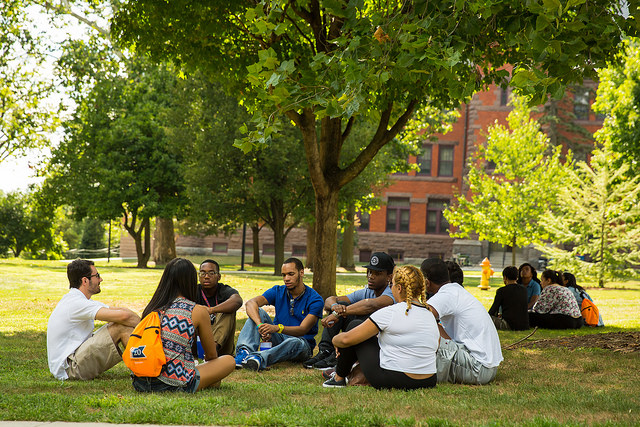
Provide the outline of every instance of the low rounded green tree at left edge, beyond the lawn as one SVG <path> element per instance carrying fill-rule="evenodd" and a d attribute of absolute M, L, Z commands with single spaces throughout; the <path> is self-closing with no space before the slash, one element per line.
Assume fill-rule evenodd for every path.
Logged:
<path fill-rule="evenodd" d="M 37 202 L 33 194 L 0 193 L 0 254 L 25 251 L 31 256 L 58 258 L 64 244 L 56 233 L 55 212 Z"/>

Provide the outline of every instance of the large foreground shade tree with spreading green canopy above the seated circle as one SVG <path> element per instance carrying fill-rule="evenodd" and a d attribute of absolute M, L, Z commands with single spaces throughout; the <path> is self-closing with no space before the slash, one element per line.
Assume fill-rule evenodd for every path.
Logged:
<path fill-rule="evenodd" d="M 123 43 L 223 79 L 253 112 L 238 145 L 268 143 L 286 117 L 303 135 L 316 197 L 314 288 L 335 294 L 338 193 L 421 106 L 453 108 L 489 83 L 539 104 L 594 76 L 635 19 L 619 2 L 131 0 Z M 631 14 L 637 14 L 634 3 Z M 356 120 L 375 129 L 341 164 Z"/>

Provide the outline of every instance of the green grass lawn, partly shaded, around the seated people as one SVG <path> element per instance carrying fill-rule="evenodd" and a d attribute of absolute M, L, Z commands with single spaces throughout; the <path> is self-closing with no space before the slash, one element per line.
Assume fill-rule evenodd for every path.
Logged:
<path fill-rule="evenodd" d="M 194 258 L 194 261 L 200 259 Z M 226 261 L 226 260 L 225 260 Z M 98 262 L 104 278 L 95 298 L 141 312 L 162 274 L 128 262 Z M 247 300 L 279 277 L 237 273 L 222 262 L 222 281 Z M 261 272 L 270 271 L 261 267 Z M 233 274 L 231 273 L 233 272 Z M 311 279 L 307 280 L 310 283 Z M 499 286 L 465 285 L 488 308 Z M 364 274 L 339 275 L 338 293 L 365 284 Z M 66 262 L 0 260 L 0 420 L 95 421 L 202 425 L 640 425 L 640 355 L 597 348 L 504 350 L 487 386 L 441 384 L 432 390 L 324 389 L 318 371 L 283 363 L 260 373 L 236 371 L 221 388 L 195 395 L 140 395 L 120 364 L 98 379 L 60 382 L 48 371 L 46 324 L 68 291 Z M 640 283 L 589 288 L 604 328 L 538 330 L 530 340 L 640 331 Z M 244 323 L 239 312 L 238 328 Z M 500 332 L 503 346 L 527 332 Z M 318 337 L 319 339 L 319 337 Z"/>

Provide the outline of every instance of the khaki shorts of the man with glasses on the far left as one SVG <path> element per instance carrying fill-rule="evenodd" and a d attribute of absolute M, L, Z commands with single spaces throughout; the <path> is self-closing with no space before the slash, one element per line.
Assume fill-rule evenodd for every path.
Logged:
<path fill-rule="evenodd" d="M 91 380 L 122 361 L 122 355 L 113 343 L 108 325 L 104 325 L 76 351 L 67 357 L 67 375 L 72 380 Z"/>

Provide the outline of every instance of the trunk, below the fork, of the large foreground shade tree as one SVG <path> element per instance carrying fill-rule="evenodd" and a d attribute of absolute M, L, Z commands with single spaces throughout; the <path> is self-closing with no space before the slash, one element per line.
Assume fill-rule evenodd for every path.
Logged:
<path fill-rule="evenodd" d="M 318 291 L 323 299 L 336 294 L 338 193 L 335 189 L 326 197 L 316 195 L 313 289 Z"/>

